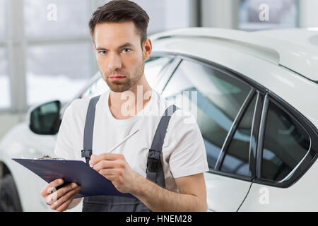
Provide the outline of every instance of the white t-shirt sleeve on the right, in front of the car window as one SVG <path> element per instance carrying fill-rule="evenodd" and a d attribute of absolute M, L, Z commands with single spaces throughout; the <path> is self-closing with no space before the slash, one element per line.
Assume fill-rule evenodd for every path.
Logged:
<path fill-rule="evenodd" d="M 208 171 L 206 148 L 196 119 L 177 110 L 170 118 L 165 137 L 170 172 L 174 178 Z"/>

